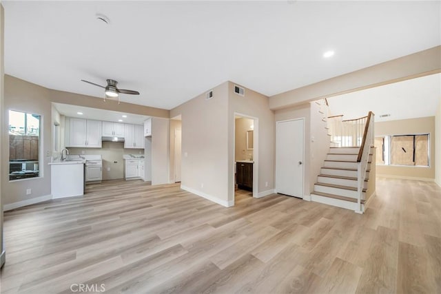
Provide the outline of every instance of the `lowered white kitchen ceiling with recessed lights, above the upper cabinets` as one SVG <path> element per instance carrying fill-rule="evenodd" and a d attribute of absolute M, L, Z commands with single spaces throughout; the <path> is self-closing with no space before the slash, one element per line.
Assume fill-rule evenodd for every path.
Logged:
<path fill-rule="evenodd" d="M 96 109 L 90 107 L 68 105 L 62 103 L 52 103 L 60 114 L 75 118 L 88 118 L 94 120 L 112 121 L 114 123 L 132 123 L 143 125 L 144 120 L 150 116 L 140 116 L 138 114 L 127 114 L 124 112 L 113 112 L 111 110 Z M 81 112 L 82 114 L 78 114 Z M 123 117 L 127 116 L 127 117 Z M 123 120 L 123 121 L 119 121 Z"/>

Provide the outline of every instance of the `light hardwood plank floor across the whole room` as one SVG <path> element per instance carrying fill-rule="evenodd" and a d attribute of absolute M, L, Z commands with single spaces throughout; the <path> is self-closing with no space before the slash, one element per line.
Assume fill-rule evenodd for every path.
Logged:
<path fill-rule="evenodd" d="M 441 293 L 433 182 L 378 179 L 364 215 L 245 192 L 112 181 L 8 211 L 1 293 Z"/>

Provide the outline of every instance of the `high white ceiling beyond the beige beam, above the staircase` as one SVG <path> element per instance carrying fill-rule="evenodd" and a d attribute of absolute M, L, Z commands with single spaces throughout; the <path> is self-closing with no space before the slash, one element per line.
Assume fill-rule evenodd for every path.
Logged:
<path fill-rule="evenodd" d="M 435 116 L 441 102 L 441 74 L 327 98 L 332 115 L 343 119 L 376 114 L 376 121 Z M 382 114 L 391 114 L 380 118 Z"/>

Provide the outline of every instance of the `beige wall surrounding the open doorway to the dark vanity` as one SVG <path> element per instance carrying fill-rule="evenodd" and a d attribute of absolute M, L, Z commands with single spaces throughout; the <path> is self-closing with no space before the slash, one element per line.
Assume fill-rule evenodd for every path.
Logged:
<path fill-rule="evenodd" d="M 245 96 L 234 93 L 234 83 L 227 83 L 228 95 L 228 200 L 234 200 L 234 119 L 236 114 L 254 118 L 253 196 L 274 193 L 274 112 L 268 97 L 245 88 Z"/>

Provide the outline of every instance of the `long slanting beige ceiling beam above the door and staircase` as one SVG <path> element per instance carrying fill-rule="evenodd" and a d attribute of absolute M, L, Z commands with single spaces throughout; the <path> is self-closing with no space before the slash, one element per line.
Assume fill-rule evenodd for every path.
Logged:
<path fill-rule="evenodd" d="M 271 109 L 441 72 L 441 46 L 300 87 L 269 98 Z"/>

